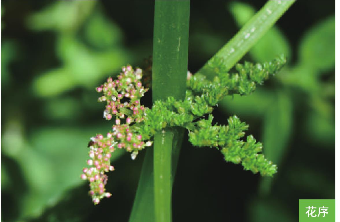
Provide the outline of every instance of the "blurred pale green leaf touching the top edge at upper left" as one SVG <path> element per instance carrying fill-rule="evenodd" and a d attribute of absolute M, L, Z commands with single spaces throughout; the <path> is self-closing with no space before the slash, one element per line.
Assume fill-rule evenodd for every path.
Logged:
<path fill-rule="evenodd" d="M 91 13 L 95 1 L 56 1 L 27 19 L 32 30 L 75 31 Z"/>

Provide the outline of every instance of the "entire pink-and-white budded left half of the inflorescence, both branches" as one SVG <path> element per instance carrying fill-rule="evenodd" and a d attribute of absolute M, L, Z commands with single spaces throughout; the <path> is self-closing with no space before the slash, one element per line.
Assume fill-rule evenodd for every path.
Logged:
<path fill-rule="evenodd" d="M 111 193 L 105 192 L 105 173 L 114 170 L 110 158 L 115 149 L 125 149 L 135 159 L 139 150 L 152 145 L 151 141 L 142 138 L 136 126 L 136 123 L 144 121 L 148 109 L 140 105 L 140 98 L 148 91 L 148 88 L 142 86 L 141 78 L 142 70 L 133 70 L 128 65 L 122 68 L 117 80 L 109 77 L 107 82 L 96 88 L 97 92 L 103 93 L 98 101 L 106 102 L 104 118 L 115 119 L 115 124 L 105 138 L 98 134 L 89 142 L 89 167 L 83 169 L 81 178 L 89 181 L 89 194 L 94 204 L 98 204 L 104 197 L 111 197 Z"/>

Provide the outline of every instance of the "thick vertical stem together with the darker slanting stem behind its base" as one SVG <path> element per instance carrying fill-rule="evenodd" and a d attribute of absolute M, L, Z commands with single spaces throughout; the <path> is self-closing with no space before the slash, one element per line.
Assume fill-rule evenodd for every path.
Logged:
<path fill-rule="evenodd" d="M 153 101 L 166 100 L 169 96 L 185 98 L 188 29 L 189 1 L 155 2 Z M 155 153 L 151 149 L 146 151 L 130 222 L 171 221 L 171 187 L 183 133 L 184 129 L 174 128 L 165 129 L 165 137 L 162 132 L 154 136 Z M 168 141 L 166 144 L 162 144 L 163 138 Z M 158 158 L 162 152 L 167 154 L 165 161 Z"/>

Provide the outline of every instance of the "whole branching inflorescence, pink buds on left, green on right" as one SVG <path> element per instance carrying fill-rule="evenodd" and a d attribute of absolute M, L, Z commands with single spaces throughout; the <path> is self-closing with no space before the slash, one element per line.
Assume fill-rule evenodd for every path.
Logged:
<path fill-rule="evenodd" d="M 184 127 L 189 131 L 193 146 L 216 147 L 226 161 L 240 163 L 253 173 L 272 176 L 277 166 L 260 154 L 262 144 L 252 135 L 246 141 L 241 139 L 248 125 L 236 116 L 229 117 L 228 125 L 212 125 L 211 112 L 227 95 L 249 95 L 256 84 L 262 84 L 285 63 L 284 56 L 263 64 L 245 62 L 235 66 L 238 73 L 229 74 L 223 59 L 214 58 L 208 63 L 217 74 L 212 81 L 200 73 L 188 73 L 184 101 L 169 97 L 166 101 L 156 101 L 151 109 L 140 104 L 140 98 L 148 91 L 140 81 L 142 70 L 133 70 L 130 65 L 123 67 L 117 80 L 110 77 L 97 87 L 97 91 L 103 93 L 98 101 L 106 102 L 104 118 L 114 119 L 115 124 L 106 137 L 98 134 L 89 142 L 89 168 L 83 169 L 81 178 L 90 182 L 89 194 L 93 202 L 98 204 L 102 198 L 111 196 L 105 192 L 105 173 L 114 170 L 110 164 L 111 153 L 117 148 L 126 149 L 135 159 L 140 150 L 152 145 L 152 136 L 166 127 Z M 202 118 L 205 114 L 209 114 L 208 119 Z"/>

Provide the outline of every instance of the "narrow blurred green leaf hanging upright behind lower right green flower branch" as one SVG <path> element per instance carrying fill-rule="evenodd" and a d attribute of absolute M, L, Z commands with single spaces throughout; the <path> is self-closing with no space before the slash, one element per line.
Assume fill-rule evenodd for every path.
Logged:
<path fill-rule="evenodd" d="M 264 115 L 262 133 L 263 154 L 280 169 L 287 153 L 293 121 L 292 102 L 284 91 L 278 91 L 273 103 Z M 274 176 L 275 177 L 275 176 Z M 268 194 L 274 178 L 261 178 L 260 192 Z"/>

